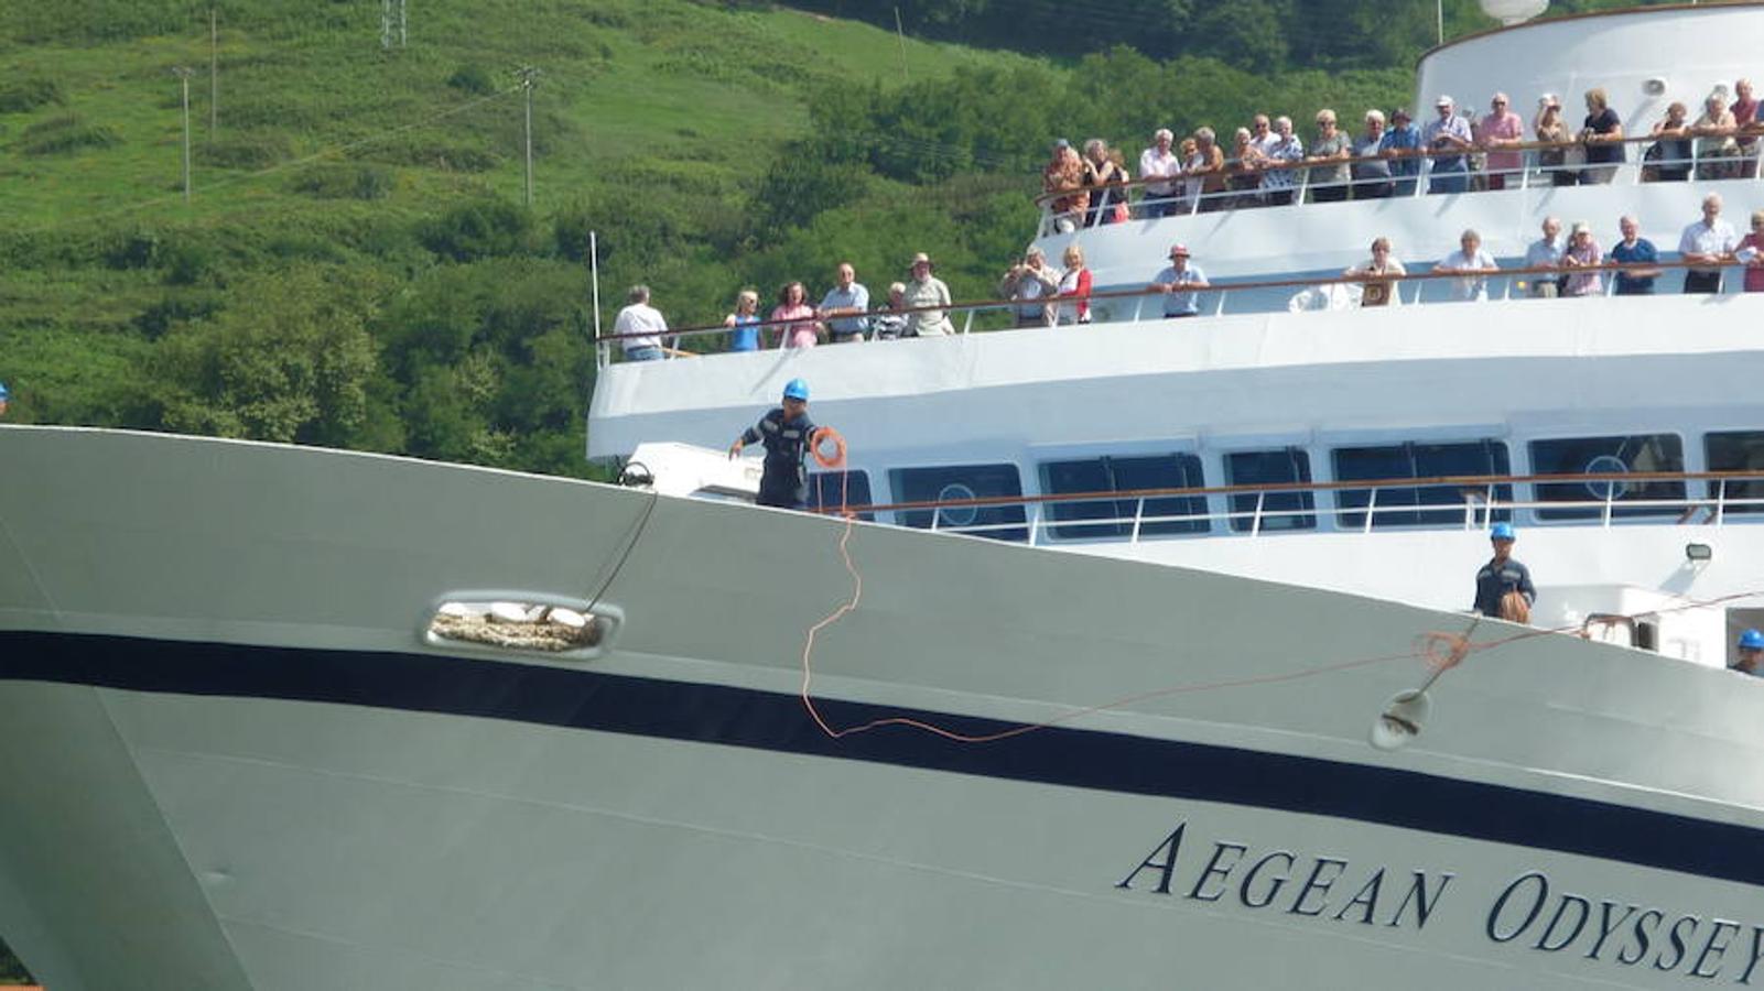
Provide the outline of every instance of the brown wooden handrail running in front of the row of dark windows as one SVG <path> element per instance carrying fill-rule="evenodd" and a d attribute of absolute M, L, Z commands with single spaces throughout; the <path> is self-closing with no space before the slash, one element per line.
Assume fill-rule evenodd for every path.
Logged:
<path fill-rule="evenodd" d="M 1764 481 L 1760 471 L 1626 471 L 1598 474 L 1438 474 L 1429 478 L 1376 478 L 1357 481 L 1268 481 L 1259 485 L 1203 485 L 1192 488 L 1127 488 L 1110 492 L 1065 492 L 1053 496 L 981 496 L 974 499 L 914 501 L 914 503 L 877 503 L 870 506 L 847 506 L 847 511 L 884 513 L 901 510 L 947 510 L 951 506 L 1027 506 L 1037 503 L 1104 503 L 1120 499 L 1203 499 L 1207 496 L 1251 496 L 1256 492 L 1339 492 L 1351 488 L 1443 488 L 1457 487 L 1468 492 L 1485 492 L 1499 485 L 1573 485 L 1586 481 Z M 1446 506 L 1351 506 L 1349 511 L 1399 511 L 1431 510 Z M 820 508 L 817 513 L 838 513 L 838 508 Z M 1064 522 L 1064 520 L 1062 520 Z M 1073 520 L 1083 522 L 1083 520 Z"/>

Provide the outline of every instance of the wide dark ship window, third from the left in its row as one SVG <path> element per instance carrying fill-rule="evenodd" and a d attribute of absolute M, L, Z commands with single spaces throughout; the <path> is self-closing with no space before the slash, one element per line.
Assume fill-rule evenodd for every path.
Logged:
<path fill-rule="evenodd" d="M 1050 496 L 1132 492 L 1136 488 L 1200 488 L 1207 485 L 1201 476 L 1201 458 L 1194 455 L 1051 460 L 1041 464 L 1041 483 Z M 1053 536 L 1060 540 L 1132 536 L 1134 517 L 1141 520 L 1140 536 L 1207 533 L 1207 520 L 1168 518 L 1201 517 L 1205 513 L 1205 496 L 1147 499 L 1143 510 L 1140 508 L 1140 499 L 1102 497 L 1083 503 L 1048 503 L 1048 515 L 1060 524 L 1053 527 Z"/>

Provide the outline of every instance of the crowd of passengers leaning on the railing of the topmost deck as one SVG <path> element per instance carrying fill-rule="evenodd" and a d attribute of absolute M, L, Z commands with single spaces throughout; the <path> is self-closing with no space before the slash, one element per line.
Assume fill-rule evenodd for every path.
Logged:
<path fill-rule="evenodd" d="M 1752 81 L 1736 81 L 1732 93 L 1715 86 L 1695 120 L 1683 102 L 1671 104 L 1649 136 L 1655 141 L 1642 152 L 1644 182 L 1683 182 L 1693 171 L 1702 180 L 1755 178 L 1764 122 Z M 1424 178 L 1427 192 L 1506 189 L 1529 168 L 1528 153 L 1554 185 L 1607 183 L 1625 160 L 1623 141 L 1623 120 L 1603 88 L 1586 92 L 1579 130 L 1568 129 L 1561 99 L 1544 93 L 1529 134 L 1506 93 L 1494 93 L 1480 118 L 1441 95 L 1425 123 L 1404 108 L 1390 111 L 1388 120 L 1385 111 L 1369 109 L 1360 136 L 1342 132 L 1334 109 L 1319 109 L 1309 146 L 1295 134 L 1293 118 L 1265 113 L 1238 127 L 1230 148 L 1212 127 L 1196 129 L 1180 145 L 1159 129 L 1140 153 L 1136 187 L 1127 187 L 1134 173 L 1122 150 L 1092 138 L 1080 153 L 1062 138 L 1043 169 L 1043 189 L 1053 196 L 1058 227 L 1071 231 L 1131 215 L 1279 206 L 1293 203 L 1302 189 L 1314 203 L 1413 196 Z M 1424 159 L 1431 162 L 1425 169 Z"/>

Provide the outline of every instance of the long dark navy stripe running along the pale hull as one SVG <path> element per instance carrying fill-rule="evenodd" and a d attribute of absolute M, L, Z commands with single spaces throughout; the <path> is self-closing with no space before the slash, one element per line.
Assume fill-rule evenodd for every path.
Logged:
<path fill-rule="evenodd" d="M 1226 746 L 1046 728 L 956 744 L 912 728 L 827 739 L 796 695 L 434 654 L 0 633 L 0 679 L 339 702 L 741 746 L 1309 813 L 1764 885 L 1764 832 L 1692 816 Z M 914 716 L 967 734 L 1011 723 L 822 700 L 834 725 Z"/>

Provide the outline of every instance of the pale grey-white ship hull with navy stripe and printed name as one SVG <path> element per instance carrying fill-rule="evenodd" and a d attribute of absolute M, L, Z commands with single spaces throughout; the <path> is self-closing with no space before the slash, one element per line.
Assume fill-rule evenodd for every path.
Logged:
<path fill-rule="evenodd" d="M 1466 617 L 859 525 L 829 723 L 1058 723 L 831 739 L 836 520 L 95 430 L 0 462 L 0 933 L 56 991 L 1764 982 L 1753 679 L 1512 638 L 1379 751 Z M 602 585 L 594 661 L 420 637 Z"/>

